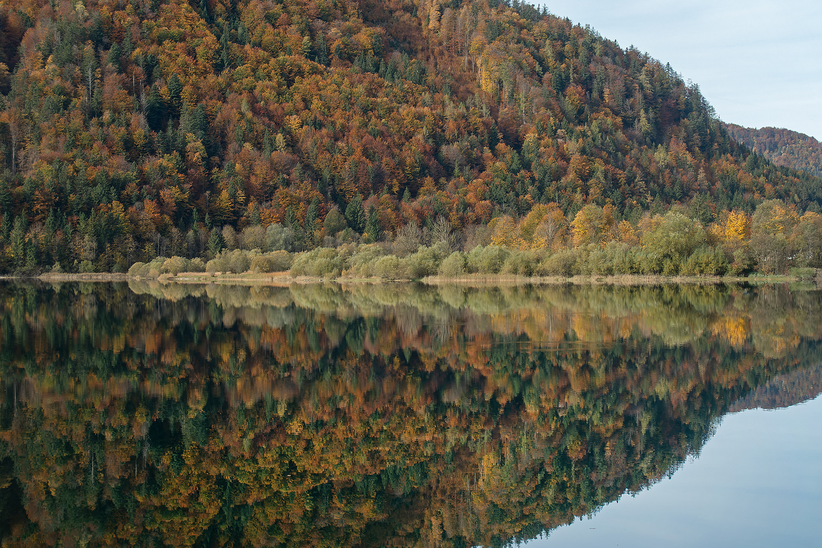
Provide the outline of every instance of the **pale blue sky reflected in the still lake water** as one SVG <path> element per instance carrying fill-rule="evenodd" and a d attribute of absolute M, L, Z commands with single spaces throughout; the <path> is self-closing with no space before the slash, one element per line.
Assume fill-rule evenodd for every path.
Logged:
<path fill-rule="evenodd" d="M 820 425 L 822 397 L 728 415 L 671 479 L 524 546 L 822 546 Z"/>

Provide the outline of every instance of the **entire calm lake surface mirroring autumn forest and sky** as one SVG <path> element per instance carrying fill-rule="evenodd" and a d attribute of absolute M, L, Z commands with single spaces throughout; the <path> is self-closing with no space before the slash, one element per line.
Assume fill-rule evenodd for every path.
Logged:
<path fill-rule="evenodd" d="M 7 281 L 0 384 L 2 546 L 822 533 L 812 287 Z"/>

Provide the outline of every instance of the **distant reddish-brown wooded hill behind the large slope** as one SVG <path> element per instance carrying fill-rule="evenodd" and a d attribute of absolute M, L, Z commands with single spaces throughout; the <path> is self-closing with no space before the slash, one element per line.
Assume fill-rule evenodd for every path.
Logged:
<path fill-rule="evenodd" d="M 736 124 L 727 124 L 727 131 L 733 140 L 777 165 L 822 175 L 822 145 L 811 136 L 778 127 L 751 129 Z"/>

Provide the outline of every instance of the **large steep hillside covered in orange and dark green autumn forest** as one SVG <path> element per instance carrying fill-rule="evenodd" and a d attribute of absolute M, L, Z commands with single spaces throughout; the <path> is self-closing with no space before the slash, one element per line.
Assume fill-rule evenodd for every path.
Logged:
<path fill-rule="evenodd" d="M 439 218 L 466 242 L 537 204 L 637 227 L 676 203 L 707 225 L 822 199 L 819 178 L 735 144 L 671 67 L 516 0 L 0 11 L 5 271 L 248 246 L 224 228 L 282 225 L 299 251 Z"/>

